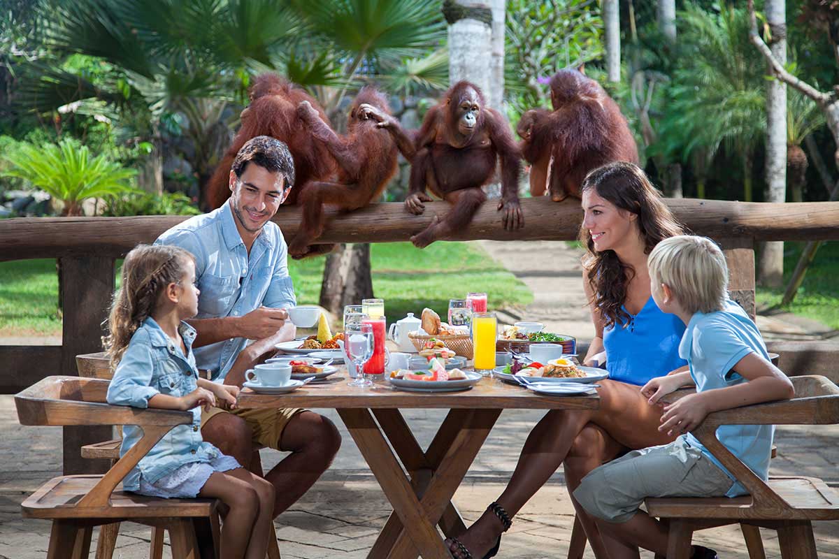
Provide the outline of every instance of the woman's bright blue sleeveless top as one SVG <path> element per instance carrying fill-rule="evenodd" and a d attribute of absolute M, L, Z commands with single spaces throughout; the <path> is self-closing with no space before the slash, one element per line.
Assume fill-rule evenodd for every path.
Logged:
<path fill-rule="evenodd" d="M 603 329 L 609 378 L 644 386 L 656 376 L 687 365 L 679 357 L 682 334 L 685 323 L 675 314 L 662 313 L 650 297 L 638 314 L 629 315 L 627 323 Z"/>

